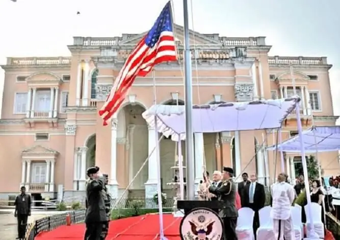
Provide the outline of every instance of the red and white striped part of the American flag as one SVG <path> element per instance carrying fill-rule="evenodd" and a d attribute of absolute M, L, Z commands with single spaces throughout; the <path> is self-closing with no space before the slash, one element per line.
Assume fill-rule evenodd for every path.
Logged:
<path fill-rule="evenodd" d="M 156 64 L 177 60 L 173 32 L 162 32 L 152 49 L 145 44 L 145 37 L 127 57 L 106 102 L 99 110 L 103 125 L 107 125 L 113 114 L 118 111 L 136 77 L 145 77 Z"/>

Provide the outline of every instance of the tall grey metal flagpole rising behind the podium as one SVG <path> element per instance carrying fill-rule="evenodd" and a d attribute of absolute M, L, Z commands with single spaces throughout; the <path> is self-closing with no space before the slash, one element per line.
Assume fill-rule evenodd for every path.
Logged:
<path fill-rule="evenodd" d="M 186 161 L 187 161 L 187 200 L 195 199 L 194 169 L 194 132 L 192 125 L 192 67 L 189 44 L 188 0 L 183 0 L 184 14 L 184 73 L 185 73 L 185 107 L 186 107 Z"/>

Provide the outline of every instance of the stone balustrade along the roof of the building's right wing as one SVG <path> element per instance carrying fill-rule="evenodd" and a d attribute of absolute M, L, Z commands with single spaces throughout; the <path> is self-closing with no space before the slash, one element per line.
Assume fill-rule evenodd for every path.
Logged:
<path fill-rule="evenodd" d="M 270 65 L 327 65 L 326 57 L 268 57 Z"/>

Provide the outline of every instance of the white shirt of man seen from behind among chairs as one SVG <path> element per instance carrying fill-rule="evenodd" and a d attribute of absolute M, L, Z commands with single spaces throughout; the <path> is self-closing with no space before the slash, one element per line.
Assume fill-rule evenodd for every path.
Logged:
<path fill-rule="evenodd" d="M 274 183 L 271 187 L 273 206 L 271 210 L 272 219 L 287 220 L 291 217 L 291 206 L 295 193 L 291 184 L 286 182 Z"/>

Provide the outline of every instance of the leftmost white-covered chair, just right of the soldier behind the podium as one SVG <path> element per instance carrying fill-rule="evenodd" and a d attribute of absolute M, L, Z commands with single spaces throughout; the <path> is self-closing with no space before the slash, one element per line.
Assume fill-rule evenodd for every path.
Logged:
<path fill-rule="evenodd" d="M 239 209 L 236 234 L 239 240 L 254 240 L 253 221 L 255 212 L 249 207 Z"/>

